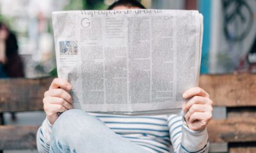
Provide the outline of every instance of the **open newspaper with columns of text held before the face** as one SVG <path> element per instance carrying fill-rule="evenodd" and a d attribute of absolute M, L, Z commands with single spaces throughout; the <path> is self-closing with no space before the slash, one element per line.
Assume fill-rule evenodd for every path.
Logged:
<path fill-rule="evenodd" d="M 52 13 L 58 77 L 74 108 L 145 115 L 180 112 L 198 85 L 203 17 L 186 10 Z"/>

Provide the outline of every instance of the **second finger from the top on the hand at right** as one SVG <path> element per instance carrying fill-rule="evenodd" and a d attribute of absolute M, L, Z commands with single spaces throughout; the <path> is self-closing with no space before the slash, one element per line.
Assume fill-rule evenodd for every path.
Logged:
<path fill-rule="evenodd" d="M 202 96 L 194 96 L 193 98 L 189 99 L 189 101 L 182 106 L 182 110 L 184 112 L 188 112 L 189 108 L 194 104 L 209 104 L 212 105 L 212 100 L 209 98 L 205 98 Z"/>

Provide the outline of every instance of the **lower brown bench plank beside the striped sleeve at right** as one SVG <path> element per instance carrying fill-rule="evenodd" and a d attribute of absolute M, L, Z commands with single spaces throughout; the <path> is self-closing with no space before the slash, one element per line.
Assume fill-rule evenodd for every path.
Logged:
<path fill-rule="evenodd" d="M 256 142 L 255 118 L 211 120 L 207 129 L 210 142 Z"/>

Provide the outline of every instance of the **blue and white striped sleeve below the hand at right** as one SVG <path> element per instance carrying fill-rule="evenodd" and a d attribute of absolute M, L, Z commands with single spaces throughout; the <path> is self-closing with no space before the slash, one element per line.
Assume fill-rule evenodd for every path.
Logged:
<path fill-rule="evenodd" d="M 174 152 L 202 153 L 209 151 L 206 128 L 202 131 L 192 131 L 186 126 L 186 121 L 181 115 L 170 115 L 168 128 Z"/>

